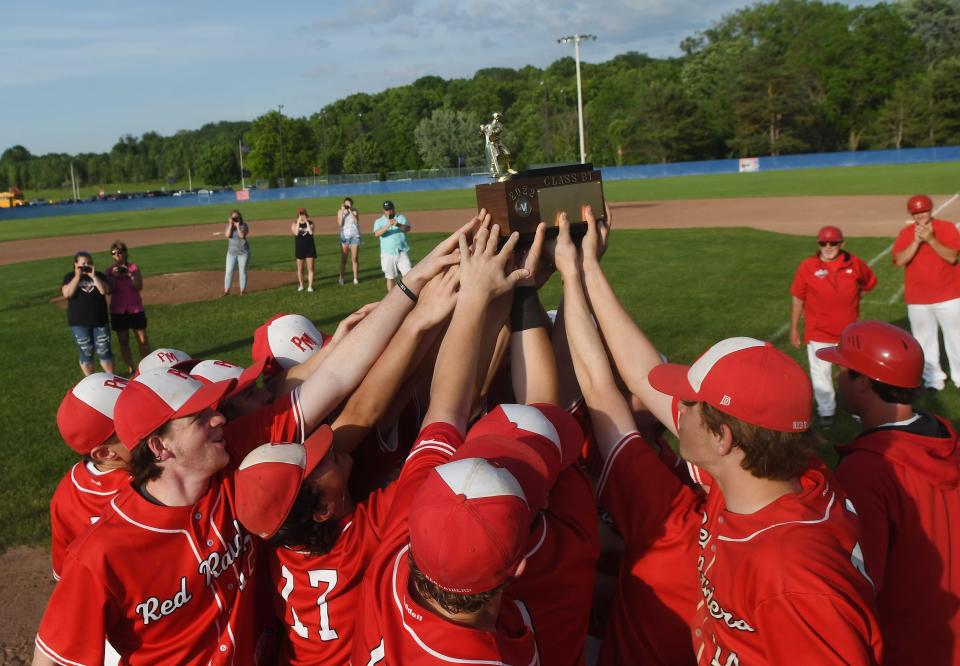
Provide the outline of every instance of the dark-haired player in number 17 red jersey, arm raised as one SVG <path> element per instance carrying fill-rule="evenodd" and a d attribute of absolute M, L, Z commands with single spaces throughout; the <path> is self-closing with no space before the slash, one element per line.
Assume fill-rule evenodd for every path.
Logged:
<path fill-rule="evenodd" d="M 302 471 L 287 466 L 287 474 L 274 479 L 238 479 L 238 496 L 248 490 L 262 492 L 265 485 L 277 487 L 280 494 L 299 489 L 287 501 L 273 503 L 275 519 L 262 529 L 251 527 L 242 506 L 240 511 L 244 525 L 270 540 L 273 607 L 287 638 L 284 663 L 349 660 L 360 583 L 384 533 L 397 486 L 394 482 L 374 490 L 355 504 L 348 490 L 351 470 L 356 469 L 350 447 L 358 441 L 357 431 L 369 428 L 389 407 L 418 348 L 452 310 L 456 276 L 449 271 L 424 287 L 413 312 L 334 421 L 329 452 L 308 451 Z M 358 421 L 354 415 L 360 413 L 369 420 Z M 294 473 L 296 478 L 290 478 Z M 261 515 L 257 502 L 246 505 L 254 517 Z"/>

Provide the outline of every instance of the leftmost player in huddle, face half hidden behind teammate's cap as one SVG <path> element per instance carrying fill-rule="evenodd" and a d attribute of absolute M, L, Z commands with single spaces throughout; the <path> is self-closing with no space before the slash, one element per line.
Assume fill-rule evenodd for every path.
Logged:
<path fill-rule="evenodd" d="M 57 410 L 60 436 L 83 456 L 60 480 L 50 500 L 53 577 L 57 580 L 67 546 L 100 520 L 110 499 L 130 482 L 130 454 L 113 425 L 113 408 L 126 385 L 123 377 L 94 373 L 70 389 Z"/>

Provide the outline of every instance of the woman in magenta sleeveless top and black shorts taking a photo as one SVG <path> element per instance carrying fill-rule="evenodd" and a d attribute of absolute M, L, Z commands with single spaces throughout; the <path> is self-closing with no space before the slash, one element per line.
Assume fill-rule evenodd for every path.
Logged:
<path fill-rule="evenodd" d="M 113 285 L 110 295 L 110 328 L 117 332 L 120 356 L 127 364 L 129 373 L 133 374 L 137 366 L 133 364 L 130 353 L 131 329 L 137 336 L 140 358 L 150 353 L 150 343 L 147 342 L 147 314 L 143 311 L 143 299 L 140 298 L 143 275 L 140 267 L 129 260 L 127 244 L 123 241 L 113 242 L 110 256 L 113 257 L 113 266 L 107 269 L 107 277 Z"/>

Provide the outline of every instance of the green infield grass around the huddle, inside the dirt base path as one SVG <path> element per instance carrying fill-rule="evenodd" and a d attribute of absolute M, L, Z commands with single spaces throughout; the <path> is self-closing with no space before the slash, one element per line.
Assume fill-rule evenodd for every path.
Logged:
<path fill-rule="evenodd" d="M 679 180 L 679 179 L 678 179 Z M 398 197 L 399 199 L 399 197 Z M 182 211 L 181 211 L 182 212 Z M 412 255 L 420 257 L 440 238 L 413 234 Z M 906 326 L 897 298 L 903 276 L 883 254 L 887 239 L 853 239 L 848 249 L 870 260 L 878 287 L 865 296 L 863 316 Z M 671 360 L 692 361 L 716 340 L 747 335 L 774 342 L 806 367 L 803 350 L 794 350 L 780 333 L 789 313 L 787 288 L 800 260 L 814 247 L 809 239 L 750 229 L 616 231 L 604 268 L 636 321 Z M 361 283 L 336 285 L 338 254 L 333 238 L 318 240 L 317 291 L 293 287 L 253 292 L 181 305 L 147 304 L 154 347 L 175 347 L 195 357 L 249 362 L 253 330 L 278 312 L 299 312 L 325 331 L 363 303 L 383 295 L 375 241 L 365 238 Z M 251 269 L 291 271 L 285 237 L 258 238 Z M 95 263 L 109 265 L 106 253 Z M 223 270 L 222 240 L 152 246 L 132 257 L 147 276 L 171 272 Z M 57 482 L 76 461 L 60 440 L 55 414 L 64 393 L 80 378 L 64 310 L 51 305 L 70 268 L 69 258 L 0 266 L 0 548 L 49 542 L 49 499 Z M 541 292 L 555 307 L 561 293 L 554 277 Z M 780 333 L 780 337 L 776 337 Z M 114 353 L 117 346 L 114 342 Z M 949 386 L 949 384 L 948 384 Z M 921 406 L 960 420 L 955 389 L 925 395 Z M 834 461 L 832 445 L 849 439 L 855 424 L 838 418 L 824 433 L 821 455 Z"/>

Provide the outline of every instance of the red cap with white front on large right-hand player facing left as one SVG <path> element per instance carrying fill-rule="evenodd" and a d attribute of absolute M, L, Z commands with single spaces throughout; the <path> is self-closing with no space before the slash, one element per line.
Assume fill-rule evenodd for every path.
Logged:
<path fill-rule="evenodd" d="M 802 432 L 810 427 L 810 378 L 769 342 L 727 338 L 693 365 L 658 365 L 650 371 L 649 381 L 661 393 L 705 402 L 761 428 Z"/>

